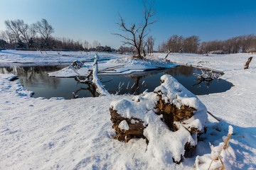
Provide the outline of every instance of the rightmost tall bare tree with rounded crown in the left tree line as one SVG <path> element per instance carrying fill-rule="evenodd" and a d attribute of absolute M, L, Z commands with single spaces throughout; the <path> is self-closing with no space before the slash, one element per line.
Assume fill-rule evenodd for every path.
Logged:
<path fill-rule="evenodd" d="M 50 26 L 46 19 L 38 21 L 35 25 L 36 31 L 42 35 L 42 37 L 48 42 L 50 35 L 54 33 L 53 26 Z"/>

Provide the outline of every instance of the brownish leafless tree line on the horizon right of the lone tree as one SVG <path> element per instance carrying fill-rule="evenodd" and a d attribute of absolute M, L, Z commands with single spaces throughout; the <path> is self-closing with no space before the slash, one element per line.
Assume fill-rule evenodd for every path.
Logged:
<path fill-rule="evenodd" d="M 198 36 L 183 37 L 172 35 L 166 42 L 161 42 L 159 52 L 187 52 L 200 54 L 231 54 L 238 52 L 256 52 L 256 36 L 240 35 L 228 40 L 212 40 L 200 43 Z"/>

